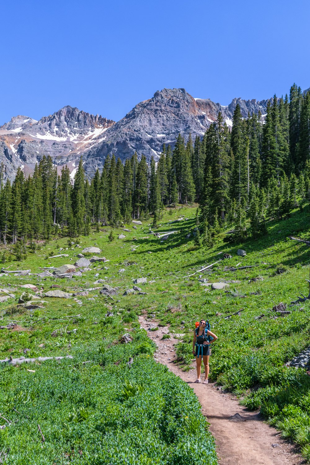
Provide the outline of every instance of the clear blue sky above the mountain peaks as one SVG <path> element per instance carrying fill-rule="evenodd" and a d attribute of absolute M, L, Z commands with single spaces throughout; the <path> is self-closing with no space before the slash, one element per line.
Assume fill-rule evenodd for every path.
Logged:
<path fill-rule="evenodd" d="M 0 125 L 65 105 L 119 120 L 164 87 L 227 105 L 310 87 L 308 0 L 1 2 Z"/>

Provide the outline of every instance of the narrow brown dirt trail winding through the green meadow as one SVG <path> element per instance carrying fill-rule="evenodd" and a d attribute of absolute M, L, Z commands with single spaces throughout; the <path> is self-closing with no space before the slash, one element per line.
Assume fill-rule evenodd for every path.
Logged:
<path fill-rule="evenodd" d="M 189 372 L 183 372 L 173 363 L 176 359 L 174 344 L 177 343 L 177 339 L 171 334 L 171 339 L 161 340 L 168 332 L 169 326 L 159 327 L 157 331 L 149 331 L 149 328 L 155 327 L 156 324 L 154 319 L 147 319 L 146 315 L 139 317 L 139 323 L 158 346 L 154 354 L 155 360 L 167 365 L 169 370 L 188 383 L 197 395 L 202 413 L 209 421 L 210 431 L 215 438 L 220 465 L 306 464 L 294 445 L 281 439 L 280 433 L 275 428 L 264 423 L 259 412 L 249 412 L 239 405 L 233 395 L 221 392 L 213 383 L 195 384 L 197 377 L 195 362 L 194 369 Z M 204 379 L 204 373 L 201 379 Z M 237 419 L 231 419 L 236 413 L 241 418 L 236 415 Z"/>

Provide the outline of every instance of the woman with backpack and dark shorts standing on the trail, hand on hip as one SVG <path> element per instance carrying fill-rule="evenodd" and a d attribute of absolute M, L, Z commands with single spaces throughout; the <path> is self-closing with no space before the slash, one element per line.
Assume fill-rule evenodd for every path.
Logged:
<path fill-rule="evenodd" d="M 218 337 L 213 334 L 213 332 L 206 329 L 206 321 L 200 320 L 198 328 L 195 329 L 194 339 L 193 339 L 193 355 L 196 356 L 196 365 L 197 365 L 197 379 L 195 383 L 201 383 L 200 372 L 201 372 L 201 362 L 204 362 L 204 382 L 203 384 L 208 383 L 209 376 L 209 356 L 210 356 L 210 344 L 216 341 Z M 211 339 L 209 338 L 211 336 Z M 195 350 L 196 346 L 196 350 Z"/>

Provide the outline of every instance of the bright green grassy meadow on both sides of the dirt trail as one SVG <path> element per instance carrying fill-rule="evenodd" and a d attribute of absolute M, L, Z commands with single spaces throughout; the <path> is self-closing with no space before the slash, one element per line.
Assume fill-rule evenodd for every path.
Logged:
<path fill-rule="evenodd" d="M 289 307 L 298 295 L 308 295 L 310 247 L 288 239 L 291 234 L 309 239 L 309 206 L 267 223 L 268 236 L 231 245 L 223 242 L 222 233 L 211 248 L 185 239 L 196 226 L 195 215 L 196 206 L 166 210 L 154 230 L 175 231 L 164 241 L 150 233 L 150 219 L 137 230 L 132 223 L 125 225 L 130 232 L 113 230 L 112 242 L 109 227 L 72 239 L 74 244 L 54 238 L 37 244 L 36 252 L 19 262 L 10 246 L 0 249 L 3 268 L 32 273 L 75 263 L 86 246 L 98 246 L 100 257 L 110 260 L 92 263 L 90 271 L 72 279 L 0 276 L 0 289 L 15 295 L 0 303 L 0 325 L 18 325 L 0 330 L 0 359 L 73 357 L 19 366 L 0 363 L 0 425 L 7 425 L 0 430 L 0 451 L 8 451 L 7 464 L 217 463 L 197 398 L 152 358 L 155 347 L 138 322 L 144 312 L 169 324 L 170 332 L 184 334 L 177 346 L 184 369 L 192 360 L 195 321 L 209 319 L 218 335 L 210 378 L 235 392 L 248 408 L 260 408 L 310 460 L 310 377 L 284 365 L 310 345 L 309 301 Z M 118 239 L 120 233 L 125 239 Z M 238 248 L 246 251 L 245 257 L 237 256 Z M 49 258 L 59 253 L 68 257 Z M 224 253 L 231 258 L 223 259 Z M 252 267 L 229 270 L 241 266 Z M 229 286 L 211 290 L 199 276 Z M 139 277 L 147 278 L 138 285 L 145 294 L 123 296 Z M 93 284 L 98 279 L 105 282 Z M 43 289 L 44 308 L 17 306 L 25 291 L 20 285 L 27 283 Z M 55 284 L 66 292 L 99 289 L 78 295 L 78 301 L 45 298 Z M 100 294 L 104 284 L 119 287 L 118 295 Z M 289 314 L 272 310 L 281 302 Z M 132 342 L 121 343 L 125 333 Z"/>

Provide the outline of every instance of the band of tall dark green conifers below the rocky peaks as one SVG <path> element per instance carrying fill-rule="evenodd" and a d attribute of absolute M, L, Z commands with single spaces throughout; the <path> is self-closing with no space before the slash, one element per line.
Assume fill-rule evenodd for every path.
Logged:
<path fill-rule="evenodd" d="M 19 168 L 12 185 L 3 182 L 2 163 L 1 242 L 48 239 L 59 231 L 74 237 L 91 225 L 119 226 L 149 213 L 156 226 L 164 206 L 192 202 L 199 203 L 208 241 L 224 222 L 232 226 L 228 240 L 264 233 L 266 219 L 280 219 L 310 199 L 310 93 L 294 84 L 290 96 L 267 101 L 265 114 L 247 117 L 237 103 L 232 127 L 223 111 L 203 136 L 185 140 L 179 133 L 155 158 L 134 153 L 123 162 L 108 154 L 93 177 L 80 158 L 73 184 L 68 166 L 59 174 L 50 156 L 27 178 Z"/>

